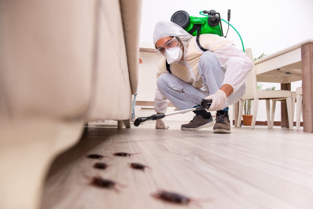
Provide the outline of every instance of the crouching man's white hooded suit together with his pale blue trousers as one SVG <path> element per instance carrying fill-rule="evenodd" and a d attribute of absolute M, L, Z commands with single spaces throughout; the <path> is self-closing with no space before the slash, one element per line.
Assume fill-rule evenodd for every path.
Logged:
<path fill-rule="evenodd" d="M 157 40 L 168 36 L 176 36 L 182 42 L 183 61 L 170 64 L 170 74 L 166 69 L 166 58 L 160 60 L 156 73 L 156 112 L 166 112 L 167 99 L 177 110 L 192 108 L 224 84 L 233 87 L 233 94 L 226 100 L 224 108 L 241 99 L 245 91 L 244 81 L 253 64 L 248 55 L 236 48 L 231 40 L 215 34 L 202 34 L 199 37 L 200 45 L 208 49 L 203 52 L 195 36 L 175 23 L 159 21 L 153 33 L 154 46 Z"/>

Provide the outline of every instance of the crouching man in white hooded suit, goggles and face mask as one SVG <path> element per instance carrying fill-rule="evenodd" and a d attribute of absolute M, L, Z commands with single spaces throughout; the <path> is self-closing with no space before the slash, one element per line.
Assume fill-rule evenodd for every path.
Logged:
<path fill-rule="evenodd" d="M 228 105 L 244 95 L 244 81 L 253 67 L 248 55 L 232 41 L 215 34 L 201 34 L 199 46 L 196 36 L 170 21 L 156 23 L 153 43 L 156 52 L 164 55 L 156 73 L 156 112 L 166 112 L 167 99 L 177 110 L 190 109 L 200 105 L 202 99 L 211 99 L 208 111 L 217 111 L 215 125 L 210 112 L 197 110 L 181 129 L 198 130 L 214 125 L 213 133 L 231 133 Z M 156 129 L 168 126 L 159 119 Z"/>

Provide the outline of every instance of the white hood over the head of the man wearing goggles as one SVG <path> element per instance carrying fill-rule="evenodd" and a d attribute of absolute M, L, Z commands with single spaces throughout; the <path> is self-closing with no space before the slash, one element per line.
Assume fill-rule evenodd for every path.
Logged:
<path fill-rule="evenodd" d="M 186 48 L 187 43 L 193 37 L 187 31 L 185 31 L 184 28 L 171 21 L 164 20 L 157 22 L 153 32 L 154 47 L 156 47 L 157 40 L 167 36 L 178 37 L 181 40 L 184 48 Z"/>

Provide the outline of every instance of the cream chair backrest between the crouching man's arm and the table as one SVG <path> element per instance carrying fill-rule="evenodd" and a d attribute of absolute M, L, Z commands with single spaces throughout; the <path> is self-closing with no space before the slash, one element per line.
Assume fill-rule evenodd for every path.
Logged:
<path fill-rule="evenodd" d="M 251 48 L 245 49 L 245 53 L 249 56 L 252 63 L 254 63 Z M 244 96 L 242 97 L 242 100 L 256 98 L 258 87 L 257 87 L 254 64 L 253 64 L 253 68 L 252 68 L 248 78 L 246 79 L 245 83 L 246 83 L 246 91 L 244 93 Z"/>

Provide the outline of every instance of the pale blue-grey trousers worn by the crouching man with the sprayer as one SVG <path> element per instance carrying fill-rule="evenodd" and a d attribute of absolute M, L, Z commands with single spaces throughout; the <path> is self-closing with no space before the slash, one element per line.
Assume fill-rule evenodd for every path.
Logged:
<path fill-rule="evenodd" d="M 204 52 L 199 60 L 198 70 L 200 78 L 208 86 L 208 92 L 186 83 L 175 75 L 162 73 L 156 81 L 158 89 L 177 108 L 185 110 L 201 104 L 201 100 L 210 94 L 214 94 L 222 87 L 226 69 L 222 68 L 212 51 Z M 224 104 L 224 108 L 238 102 L 245 92 L 245 84 L 239 90 L 231 94 Z"/>

